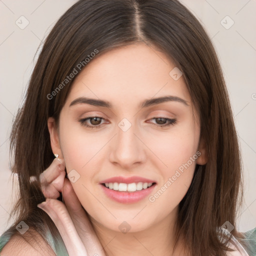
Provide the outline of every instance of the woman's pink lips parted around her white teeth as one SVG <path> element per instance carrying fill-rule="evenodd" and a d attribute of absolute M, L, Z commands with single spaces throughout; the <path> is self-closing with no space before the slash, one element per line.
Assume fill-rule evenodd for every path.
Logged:
<path fill-rule="evenodd" d="M 139 191 L 134 191 L 134 192 L 127 192 L 127 191 L 118 191 L 118 190 L 113 190 L 105 187 L 102 183 L 109 183 L 109 182 L 117 182 L 117 183 L 137 183 L 137 182 L 147 182 L 147 183 L 154 183 L 150 187 L 146 189 L 142 189 Z M 142 200 L 145 198 L 150 192 L 155 187 L 155 181 L 148 179 L 148 178 L 143 178 L 139 176 L 131 176 L 131 177 L 123 177 L 123 176 L 116 176 L 112 178 L 108 178 L 105 180 L 100 181 L 100 186 L 103 189 L 103 192 L 111 199 L 120 202 L 120 203 L 134 203 L 138 202 L 139 200 Z"/>

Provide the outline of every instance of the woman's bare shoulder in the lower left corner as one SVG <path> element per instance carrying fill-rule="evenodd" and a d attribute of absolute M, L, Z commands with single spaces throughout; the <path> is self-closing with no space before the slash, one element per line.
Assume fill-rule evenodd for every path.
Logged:
<path fill-rule="evenodd" d="M 50 245 L 34 229 L 30 229 L 23 235 L 14 233 L 3 246 L 0 256 L 56 256 Z"/>

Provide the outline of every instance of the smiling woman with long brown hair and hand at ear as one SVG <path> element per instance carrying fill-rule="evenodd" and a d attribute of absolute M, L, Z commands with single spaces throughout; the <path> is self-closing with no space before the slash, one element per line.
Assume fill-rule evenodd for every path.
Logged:
<path fill-rule="evenodd" d="M 176 0 L 71 6 L 11 149 L 20 200 L 3 255 L 255 253 L 256 229 L 236 227 L 241 163 L 219 62 Z"/>

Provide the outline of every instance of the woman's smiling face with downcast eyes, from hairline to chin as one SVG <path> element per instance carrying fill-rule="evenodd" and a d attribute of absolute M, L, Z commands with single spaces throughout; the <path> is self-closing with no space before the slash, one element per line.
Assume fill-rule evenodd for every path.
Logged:
<path fill-rule="evenodd" d="M 137 44 L 92 59 L 73 82 L 51 146 L 84 209 L 106 228 L 135 232 L 175 217 L 195 164 L 205 163 L 198 114 L 180 74 L 165 54 Z M 176 100 L 151 101 L 167 96 Z M 113 177 L 114 189 L 138 191 L 106 188 L 102 181 Z"/>

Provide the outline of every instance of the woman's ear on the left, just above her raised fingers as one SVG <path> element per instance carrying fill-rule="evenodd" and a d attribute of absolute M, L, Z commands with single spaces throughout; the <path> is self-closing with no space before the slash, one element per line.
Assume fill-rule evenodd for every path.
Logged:
<path fill-rule="evenodd" d="M 53 117 L 49 117 L 47 121 L 48 130 L 50 134 L 50 146 L 52 149 L 53 154 L 58 154 L 59 158 L 63 158 L 60 144 L 59 144 L 59 135 L 56 126 L 55 119 Z"/>

